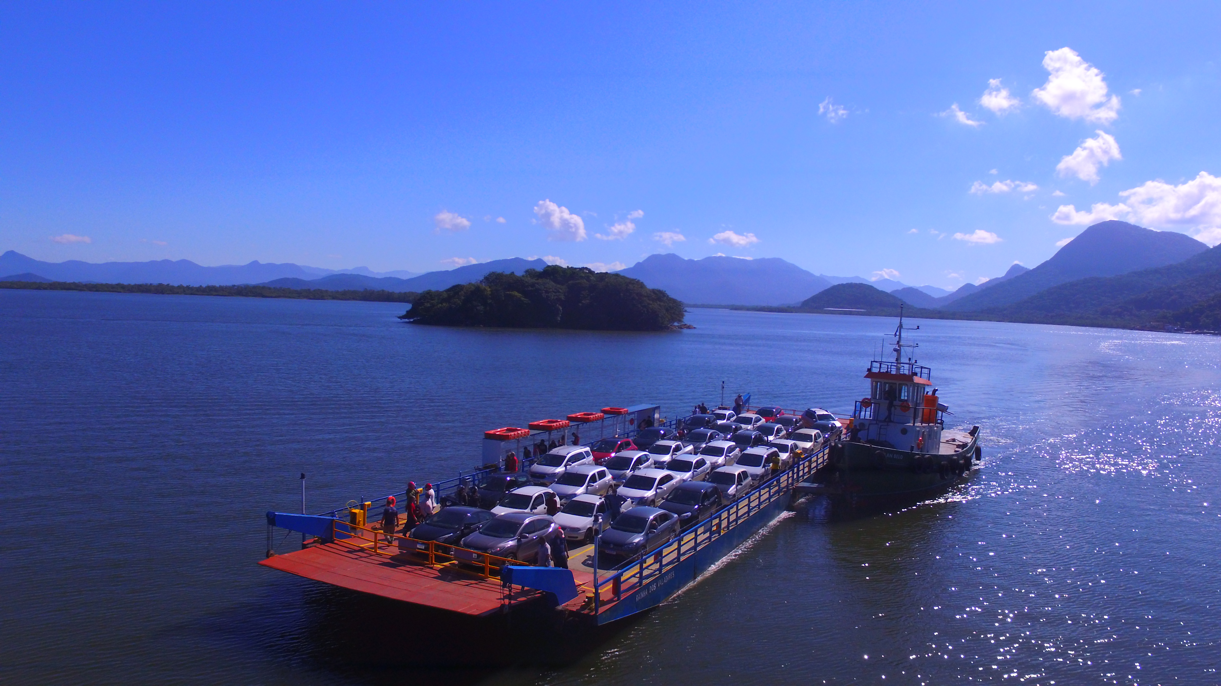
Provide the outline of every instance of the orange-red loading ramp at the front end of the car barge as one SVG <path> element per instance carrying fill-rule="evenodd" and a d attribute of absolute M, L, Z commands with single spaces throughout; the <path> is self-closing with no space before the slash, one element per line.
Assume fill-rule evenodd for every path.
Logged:
<path fill-rule="evenodd" d="M 342 588 L 372 593 L 407 603 L 484 616 L 538 597 L 537 591 L 516 591 L 505 601 L 499 579 L 484 579 L 454 564 L 430 566 L 411 555 L 386 557 L 343 543 L 313 546 L 261 560 L 259 564 Z M 578 586 L 592 575 L 574 570 Z M 565 607 L 576 609 L 582 592 Z M 575 605 L 575 607 L 574 607 Z"/>

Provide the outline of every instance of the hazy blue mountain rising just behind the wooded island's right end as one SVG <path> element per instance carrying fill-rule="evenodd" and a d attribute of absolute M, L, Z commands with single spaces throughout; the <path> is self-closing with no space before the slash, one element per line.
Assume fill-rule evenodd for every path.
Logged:
<path fill-rule="evenodd" d="M 639 278 L 684 303 L 714 305 L 792 304 L 830 286 L 779 258 L 685 260 L 675 254 L 650 255 L 615 273 Z"/>

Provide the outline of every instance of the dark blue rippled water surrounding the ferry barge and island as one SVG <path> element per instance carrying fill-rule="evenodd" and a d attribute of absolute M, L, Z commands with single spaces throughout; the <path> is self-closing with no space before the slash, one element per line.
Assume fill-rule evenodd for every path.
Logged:
<path fill-rule="evenodd" d="M 330 509 L 455 476 L 485 428 L 673 416 L 722 380 L 845 411 L 894 322 L 476 331 L 402 310 L 0 291 L 0 681 L 1221 681 L 1221 339 L 921 321 L 954 419 L 983 426 L 973 482 L 873 516 L 812 504 L 575 654 L 473 668 L 413 649 L 430 624 L 391 603 L 255 564 L 299 472 Z M 400 652 L 359 649 L 387 626 Z"/>

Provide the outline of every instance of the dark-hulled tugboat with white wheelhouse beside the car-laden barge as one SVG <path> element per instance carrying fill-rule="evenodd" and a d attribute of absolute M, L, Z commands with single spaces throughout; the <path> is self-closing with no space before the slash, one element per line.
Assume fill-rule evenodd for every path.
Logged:
<path fill-rule="evenodd" d="M 979 427 L 945 428 L 947 408 L 933 388 L 932 370 L 917 364 L 904 343 L 902 306 L 895 328 L 895 359 L 873 360 L 864 372 L 869 394 L 856 402 L 847 437 L 832 447 L 829 464 L 797 491 L 822 493 L 852 505 L 922 500 L 960 483 L 982 459 Z"/>

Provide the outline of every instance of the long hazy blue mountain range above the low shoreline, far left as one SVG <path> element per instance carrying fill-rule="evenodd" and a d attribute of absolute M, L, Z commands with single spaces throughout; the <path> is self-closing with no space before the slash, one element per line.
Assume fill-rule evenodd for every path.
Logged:
<path fill-rule="evenodd" d="M 366 267 L 357 267 L 366 270 Z M 368 271 L 368 270 L 366 270 Z M 9 250 L 0 255 L 0 273 L 37 273 L 51 281 L 94 283 L 170 283 L 182 286 L 230 286 L 261 283 L 276 278 L 317 278 L 336 270 L 253 261 L 245 265 L 205 267 L 190 260 L 148 262 L 44 262 Z M 413 272 L 403 272 L 413 273 Z"/>

